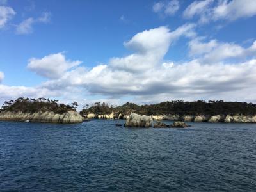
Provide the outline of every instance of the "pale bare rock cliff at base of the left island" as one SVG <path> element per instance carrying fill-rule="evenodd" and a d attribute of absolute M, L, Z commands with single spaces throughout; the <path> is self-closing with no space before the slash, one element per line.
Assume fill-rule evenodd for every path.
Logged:
<path fill-rule="evenodd" d="M 60 124 L 74 124 L 83 122 L 82 116 L 76 111 L 68 111 L 63 114 L 54 113 L 52 111 L 36 112 L 36 113 L 22 113 L 12 111 L 2 111 L 0 113 L 0 120 L 20 121 L 20 122 L 42 122 L 42 123 L 60 123 Z"/>

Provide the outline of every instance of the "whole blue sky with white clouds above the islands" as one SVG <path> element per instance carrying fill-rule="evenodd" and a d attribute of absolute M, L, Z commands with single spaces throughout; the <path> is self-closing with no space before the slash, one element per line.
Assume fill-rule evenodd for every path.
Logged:
<path fill-rule="evenodd" d="M 255 84 L 255 0 L 0 0 L 0 104 L 255 103 Z"/>

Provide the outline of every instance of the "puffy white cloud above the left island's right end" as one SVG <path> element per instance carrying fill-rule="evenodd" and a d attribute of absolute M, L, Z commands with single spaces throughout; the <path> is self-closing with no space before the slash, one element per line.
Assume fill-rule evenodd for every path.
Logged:
<path fill-rule="evenodd" d="M 66 60 L 65 55 L 60 52 L 41 59 L 31 58 L 29 59 L 28 68 L 40 76 L 56 79 L 79 64 L 81 64 L 81 61 Z"/>

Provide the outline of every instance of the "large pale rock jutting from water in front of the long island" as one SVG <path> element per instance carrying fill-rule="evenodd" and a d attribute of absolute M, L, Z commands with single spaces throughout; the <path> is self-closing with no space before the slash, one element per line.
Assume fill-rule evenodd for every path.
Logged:
<path fill-rule="evenodd" d="M 153 119 L 150 116 L 131 113 L 125 122 L 125 127 L 151 127 Z"/>

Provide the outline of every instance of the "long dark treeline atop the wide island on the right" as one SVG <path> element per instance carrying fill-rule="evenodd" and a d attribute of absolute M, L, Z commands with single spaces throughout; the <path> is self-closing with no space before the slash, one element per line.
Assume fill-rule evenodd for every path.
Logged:
<path fill-rule="evenodd" d="M 256 104 L 246 102 L 224 102 L 223 100 L 205 102 L 198 100 L 193 102 L 184 102 L 182 100 L 173 100 L 161 102 L 159 104 L 137 105 L 127 102 L 122 106 L 109 106 L 106 103 L 99 102 L 93 106 L 86 106 L 80 113 L 87 115 L 95 113 L 106 115 L 111 112 L 124 113 L 129 115 L 131 112 L 140 115 L 256 115 Z"/>

